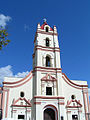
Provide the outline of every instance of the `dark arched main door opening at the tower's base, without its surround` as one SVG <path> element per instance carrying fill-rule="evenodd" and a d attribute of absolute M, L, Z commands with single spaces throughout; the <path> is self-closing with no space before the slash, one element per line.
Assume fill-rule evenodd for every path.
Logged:
<path fill-rule="evenodd" d="M 55 120 L 55 111 L 51 108 L 45 109 L 44 120 Z"/>

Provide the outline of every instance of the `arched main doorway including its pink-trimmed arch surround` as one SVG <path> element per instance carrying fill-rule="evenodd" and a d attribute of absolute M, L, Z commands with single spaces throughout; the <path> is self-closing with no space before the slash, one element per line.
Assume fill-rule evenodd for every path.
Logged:
<path fill-rule="evenodd" d="M 57 108 L 53 105 L 47 105 L 44 107 L 43 120 L 58 120 Z"/>

